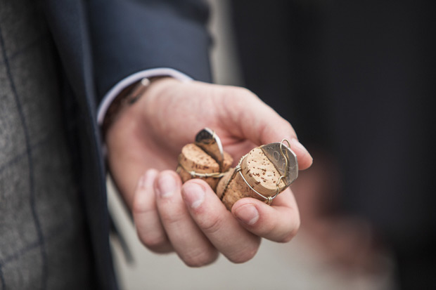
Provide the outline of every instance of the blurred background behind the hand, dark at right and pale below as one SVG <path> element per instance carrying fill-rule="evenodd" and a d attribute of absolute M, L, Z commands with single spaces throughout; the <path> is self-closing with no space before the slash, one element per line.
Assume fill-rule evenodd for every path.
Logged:
<path fill-rule="evenodd" d="M 111 190 L 122 289 L 436 289 L 433 1 L 209 2 L 215 82 L 250 88 L 314 157 L 291 187 L 302 228 L 188 268 L 141 246 Z"/>

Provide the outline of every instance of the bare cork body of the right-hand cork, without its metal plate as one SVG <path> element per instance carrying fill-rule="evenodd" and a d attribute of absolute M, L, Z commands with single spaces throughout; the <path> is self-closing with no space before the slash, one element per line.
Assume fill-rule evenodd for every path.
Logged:
<path fill-rule="evenodd" d="M 267 199 L 264 199 L 264 197 L 274 197 L 276 195 L 276 183 L 281 175 L 260 147 L 256 147 L 245 156 L 241 162 L 241 173 L 251 187 L 264 195 L 264 197 L 257 195 L 256 192 L 251 190 L 241 177 L 241 173 L 236 173 L 233 179 L 231 179 L 234 170 L 232 169 L 226 173 L 217 186 L 217 195 L 222 199 L 227 209 L 231 210 L 231 206 L 243 197 L 253 197 L 265 202 Z M 229 185 L 226 188 L 226 192 L 224 192 L 227 183 Z M 283 191 L 286 187 L 286 184 L 281 180 L 278 185 L 279 192 Z"/>

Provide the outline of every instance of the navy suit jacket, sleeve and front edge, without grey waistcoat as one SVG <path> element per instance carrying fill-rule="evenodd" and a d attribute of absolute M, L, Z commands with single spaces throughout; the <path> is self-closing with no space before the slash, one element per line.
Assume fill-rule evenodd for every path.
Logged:
<path fill-rule="evenodd" d="M 207 6 L 193 0 L 44 0 L 41 4 L 65 71 L 65 88 L 71 88 L 77 103 L 74 118 L 79 138 L 73 146 L 79 152 L 96 278 L 101 289 L 116 289 L 96 108 L 111 86 L 139 70 L 172 67 L 210 81 L 210 38 L 204 27 Z"/>

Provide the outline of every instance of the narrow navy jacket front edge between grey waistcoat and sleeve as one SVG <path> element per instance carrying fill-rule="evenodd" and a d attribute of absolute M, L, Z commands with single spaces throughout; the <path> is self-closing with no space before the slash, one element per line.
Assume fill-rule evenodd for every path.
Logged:
<path fill-rule="evenodd" d="M 86 218 L 101 289 L 117 289 L 109 246 L 109 214 L 101 138 L 96 124 L 96 93 L 86 11 L 82 1 L 45 1 L 46 17 L 56 42 L 68 83 L 74 91 L 79 120 L 79 171 Z"/>

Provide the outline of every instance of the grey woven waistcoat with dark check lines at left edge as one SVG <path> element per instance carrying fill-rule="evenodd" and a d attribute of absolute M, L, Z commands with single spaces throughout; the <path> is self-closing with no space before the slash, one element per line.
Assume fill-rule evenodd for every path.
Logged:
<path fill-rule="evenodd" d="M 84 210 L 35 2 L 0 0 L 0 289 L 86 289 Z"/>

